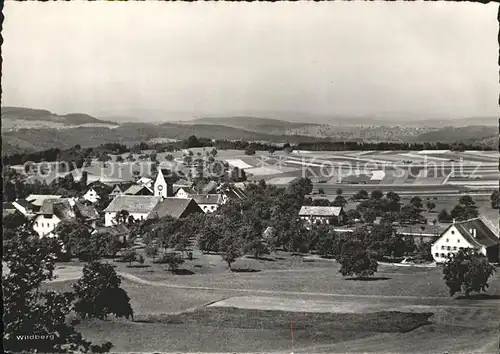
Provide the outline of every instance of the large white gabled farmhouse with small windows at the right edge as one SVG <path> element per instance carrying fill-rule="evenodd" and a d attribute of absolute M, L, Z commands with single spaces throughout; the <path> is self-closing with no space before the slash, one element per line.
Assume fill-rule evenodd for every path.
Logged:
<path fill-rule="evenodd" d="M 483 220 L 475 218 L 451 224 L 432 244 L 431 252 L 436 263 L 442 263 L 461 248 L 474 248 L 496 263 L 499 244 L 498 235 Z"/>

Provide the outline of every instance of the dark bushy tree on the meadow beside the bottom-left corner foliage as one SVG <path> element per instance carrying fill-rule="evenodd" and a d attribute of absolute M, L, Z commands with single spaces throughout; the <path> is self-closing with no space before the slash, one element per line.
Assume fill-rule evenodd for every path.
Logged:
<path fill-rule="evenodd" d="M 110 264 L 97 261 L 86 264 L 82 277 L 73 284 L 75 312 L 82 318 L 105 319 L 113 314 L 133 319 L 130 298 L 120 285 L 121 279 Z"/>

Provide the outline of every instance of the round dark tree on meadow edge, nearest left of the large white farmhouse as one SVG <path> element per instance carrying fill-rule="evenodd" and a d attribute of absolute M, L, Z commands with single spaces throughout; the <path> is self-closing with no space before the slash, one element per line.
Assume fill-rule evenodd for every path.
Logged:
<path fill-rule="evenodd" d="M 363 244 L 355 239 L 342 245 L 338 262 L 341 264 L 339 272 L 344 277 L 369 277 L 375 274 L 378 267 L 377 261 L 371 258 Z"/>

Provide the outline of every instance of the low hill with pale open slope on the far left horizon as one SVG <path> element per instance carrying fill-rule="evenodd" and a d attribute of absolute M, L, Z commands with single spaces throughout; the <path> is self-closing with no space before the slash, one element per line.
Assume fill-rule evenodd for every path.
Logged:
<path fill-rule="evenodd" d="M 2 130 L 47 127 L 67 129 L 76 126 L 116 126 L 116 122 L 97 119 L 84 113 L 58 115 L 44 109 L 2 107 Z"/>

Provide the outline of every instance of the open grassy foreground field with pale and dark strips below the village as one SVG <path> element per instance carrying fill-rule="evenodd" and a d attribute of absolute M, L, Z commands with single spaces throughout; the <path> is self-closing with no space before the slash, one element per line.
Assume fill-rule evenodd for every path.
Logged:
<path fill-rule="evenodd" d="M 206 269 L 192 275 L 171 274 L 149 260 L 145 268 L 116 263 L 134 321 L 85 320 L 78 329 L 96 342 L 111 341 L 118 352 L 490 353 L 498 348 L 499 274 L 487 297 L 452 299 L 435 267 L 381 265 L 374 280 L 359 281 L 342 278 L 332 260 L 245 258 L 234 268 L 260 271 L 229 272 L 220 256 L 195 258 L 183 268 Z M 57 271 L 60 281 L 47 287 L 69 289 L 67 279 L 78 277 L 80 268 L 63 266 Z"/>

